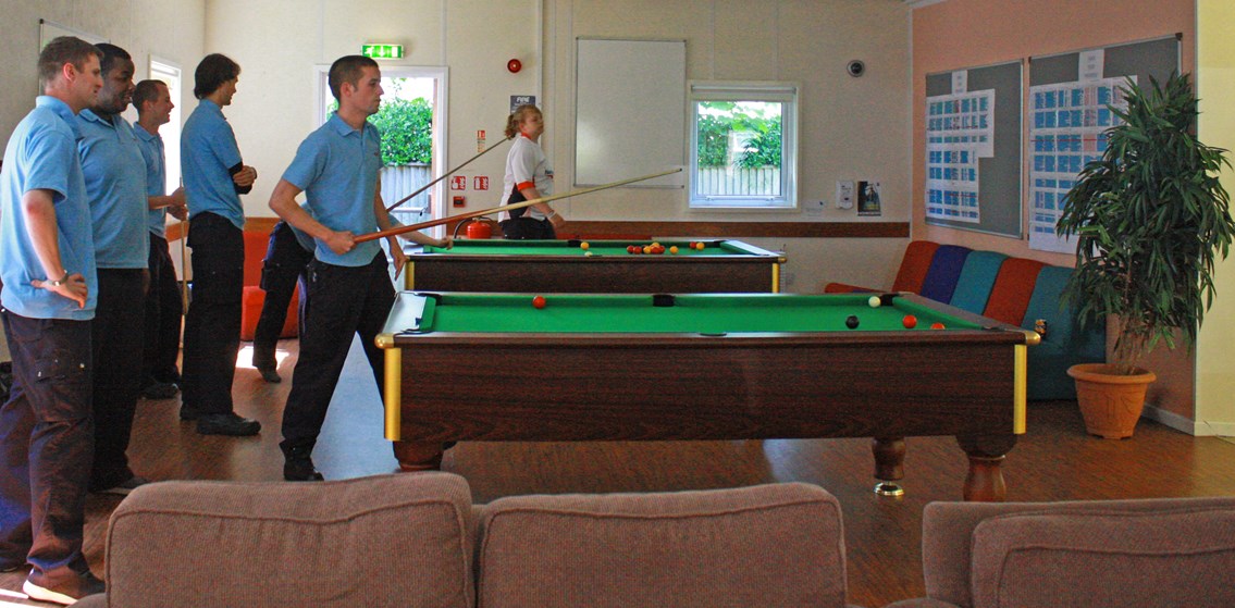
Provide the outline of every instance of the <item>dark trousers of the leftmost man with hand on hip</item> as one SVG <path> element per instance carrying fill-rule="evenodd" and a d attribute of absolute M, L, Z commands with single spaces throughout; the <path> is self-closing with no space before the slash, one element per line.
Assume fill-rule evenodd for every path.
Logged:
<path fill-rule="evenodd" d="M 0 312 L 12 390 L 0 407 L 0 564 L 42 586 L 85 566 L 82 527 L 94 459 L 90 321 Z"/>

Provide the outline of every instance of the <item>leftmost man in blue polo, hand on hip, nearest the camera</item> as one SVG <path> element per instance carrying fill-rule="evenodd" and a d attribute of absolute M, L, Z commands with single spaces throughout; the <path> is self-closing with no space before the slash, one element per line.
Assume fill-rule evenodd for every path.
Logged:
<path fill-rule="evenodd" d="M 0 407 L 0 571 L 30 564 L 26 594 L 61 604 L 104 591 L 82 555 L 98 282 L 74 116 L 103 86 L 99 57 L 73 37 L 43 47 L 43 95 L 0 171 L 0 317 L 14 371 Z"/>

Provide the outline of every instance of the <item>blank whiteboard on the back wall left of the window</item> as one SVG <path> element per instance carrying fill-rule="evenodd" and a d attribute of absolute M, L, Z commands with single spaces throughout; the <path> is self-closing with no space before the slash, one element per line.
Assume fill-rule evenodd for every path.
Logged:
<path fill-rule="evenodd" d="M 682 166 L 687 43 L 578 38 L 574 185 L 594 186 Z M 683 175 L 637 186 L 682 187 Z"/>

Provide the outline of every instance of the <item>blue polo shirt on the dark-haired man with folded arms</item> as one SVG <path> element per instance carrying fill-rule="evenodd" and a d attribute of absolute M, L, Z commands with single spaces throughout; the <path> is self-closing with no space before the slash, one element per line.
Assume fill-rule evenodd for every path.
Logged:
<path fill-rule="evenodd" d="M 240 147 L 224 110 L 214 101 L 201 100 L 180 133 L 180 170 L 184 195 L 189 201 L 189 220 L 210 212 L 245 229 L 245 206 L 236 194 L 236 183 L 227 173 L 238 164 Z"/>

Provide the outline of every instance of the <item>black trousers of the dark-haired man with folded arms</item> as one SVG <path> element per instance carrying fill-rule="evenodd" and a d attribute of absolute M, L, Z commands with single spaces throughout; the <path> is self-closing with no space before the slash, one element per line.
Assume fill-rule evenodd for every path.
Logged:
<path fill-rule="evenodd" d="M 201 414 L 232 411 L 245 291 L 245 236 L 222 216 L 199 213 L 189 226 L 193 296 L 184 317 L 183 405 Z"/>

